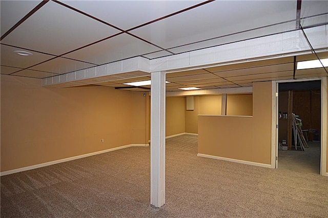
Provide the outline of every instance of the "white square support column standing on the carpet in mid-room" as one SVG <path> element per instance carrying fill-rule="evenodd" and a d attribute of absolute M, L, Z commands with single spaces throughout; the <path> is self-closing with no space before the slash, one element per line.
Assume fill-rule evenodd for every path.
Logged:
<path fill-rule="evenodd" d="M 165 204 L 165 72 L 151 73 L 150 204 Z"/>

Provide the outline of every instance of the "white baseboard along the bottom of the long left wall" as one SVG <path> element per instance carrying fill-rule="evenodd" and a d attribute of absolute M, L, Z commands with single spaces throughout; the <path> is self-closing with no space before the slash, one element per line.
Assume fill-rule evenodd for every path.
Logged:
<path fill-rule="evenodd" d="M 60 159 L 60 160 L 56 160 L 56 161 L 50 161 L 50 162 L 46 162 L 46 163 L 42 163 L 42 164 L 36 164 L 36 165 L 28 166 L 28 167 L 22 167 L 22 168 L 18 168 L 18 169 L 13 169 L 13 170 L 0 172 L 0 176 L 9 175 L 9 174 L 12 174 L 12 173 L 22 172 L 22 171 L 26 171 L 26 170 L 32 170 L 32 169 L 36 169 L 36 168 L 40 168 L 40 167 L 46 167 L 46 166 L 49 166 L 49 165 L 59 164 L 59 163 L 67 162 L 67 161 L 73 161 L 73 160 L 76 160 L 76 159 L 79 159 L 79 158 L 84 158 L 84 157 L 93 156 L 93 155 L 97 155 L 97 154 L 107 153 L 107 152 L 115 151 L 115 150 L 119 150 L 119 149 L 124 149 L 124 148 L 129 148 L 129 147 L 141 147 L 141 146 L 142 147 L 147 147 L 147 146 L 149 146 L 149 144 L 130 144 L 130 145 L 119 146 L 119 147 L 116 147 L 116 148 L 110 148 L 110 149 L 106 149 L 106 150 L 102 150 L 102 151 L 96 151 L 96 152 L 92 152 L 92 153 L 88 153 L 88 154 L 72 156 L 72 157 L 68 157 L 68 158 L 64 158 L 64 159 Z"/>

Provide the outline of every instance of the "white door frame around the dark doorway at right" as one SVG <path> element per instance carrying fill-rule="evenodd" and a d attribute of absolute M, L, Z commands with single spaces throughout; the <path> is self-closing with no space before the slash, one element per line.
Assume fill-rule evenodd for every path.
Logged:
<path fill-rule="evenodd" d="M 304 81 L 321 81 L 321 155 L 320 155 L 320 175 L 328 176 L 326 170 L 327 162 L 327 77 L 304 78 L 297 80 L 279 80 L 272 81 L 272 131 L 271 131 L 271 168 L 278 168 L 278 92 L 279 83 L 304 82 Z"/>

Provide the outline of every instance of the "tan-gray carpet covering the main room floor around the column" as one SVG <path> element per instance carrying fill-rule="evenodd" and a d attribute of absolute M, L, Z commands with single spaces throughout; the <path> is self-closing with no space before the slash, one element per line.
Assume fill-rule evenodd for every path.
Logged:
<path fill-rule="evenodd" d="M 1 217 L 328 217 L 328 177 L 197 157 L 167 140 L 166 205 L 150 206 L 150 149 L 1 177 Z"/>

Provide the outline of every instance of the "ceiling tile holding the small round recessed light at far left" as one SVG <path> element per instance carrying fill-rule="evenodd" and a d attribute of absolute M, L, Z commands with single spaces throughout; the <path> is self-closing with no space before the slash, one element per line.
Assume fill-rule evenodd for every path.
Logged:
<path fill-rule="evenodd" d="M 6 46 L 6 45 L 1 45 L 0 49 L 1 49 L 1 64 L 11 67 L 27 68 L 54 57 L 52 55 L 33 52 L 26 49 L 23 49 L 23 51 L 30 52 L 33 55 L 22 56 L 14 53 L 14 51 L 22 51 L 22 49 Z"/>

